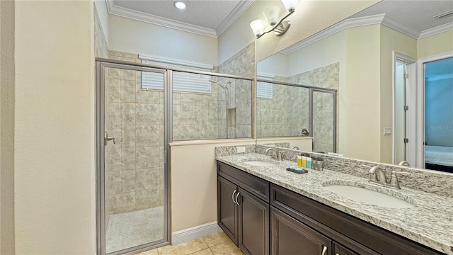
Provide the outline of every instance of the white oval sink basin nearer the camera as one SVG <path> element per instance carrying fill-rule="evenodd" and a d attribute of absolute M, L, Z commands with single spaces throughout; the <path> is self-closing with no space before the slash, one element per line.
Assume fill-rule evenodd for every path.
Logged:
<path fill-rule="evenodd" d="M 412 208 L 414 206 L 403 199 L 377 191 L 370 191 L 367 188 L 348 185 L 329 185 L 324 186 L 324 188 L 345 198 L 367 203 L 369 205 L 377 205 L 383 208 Z"/>

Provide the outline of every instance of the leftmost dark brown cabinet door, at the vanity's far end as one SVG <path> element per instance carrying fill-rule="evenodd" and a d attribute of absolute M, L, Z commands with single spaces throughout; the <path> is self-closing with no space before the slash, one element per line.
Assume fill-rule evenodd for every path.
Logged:
<path fill-rule="evenodd" d="M 238 206 L 234 203 L 236 185 L 217 176 L 217 222 L 226 235 L 238 244 Z"/>

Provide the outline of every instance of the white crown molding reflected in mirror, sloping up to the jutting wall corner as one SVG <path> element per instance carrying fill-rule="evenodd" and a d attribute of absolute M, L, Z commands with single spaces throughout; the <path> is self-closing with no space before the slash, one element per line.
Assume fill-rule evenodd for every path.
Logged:
<path fill-rule="evenodd" d="M 378 14 L 378 15 L 372 15 L 372 16 L 361 17 L 361 18 L 348 18 L 344 21 L 340 21 L 339 23 L 336 23 L 335 25 L 330 26 L 330 27 L 320 31 L 319 33 L 311 35 L 309 38 L 306 38 L 300 42 L 297 42 L 296 44 L 294 44 L 292 46 L 287 47 L 285 50 L 282 50 L 281 52 L 286 55 L 291 54 L 292 52 L 295 52 L 296 50 L 300 50 L 303 47 L 311 45 L 314 42 L 318 42 L 319 40 L 328 38 L 329 36 L 331 36 L 335 33 L 338 33 L 341 30 L 345 30 L 346 28 L 380 24 L 384 20 L 384 17 L 385 17 L 385 14 Z"/>

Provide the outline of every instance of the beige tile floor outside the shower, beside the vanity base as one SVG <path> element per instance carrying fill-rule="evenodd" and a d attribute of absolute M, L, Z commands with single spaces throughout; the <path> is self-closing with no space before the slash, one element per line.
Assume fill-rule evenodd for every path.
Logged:
<path fill-rule="evenodd" d="M 210 234 L 176 246 L 163 246 L 136 255 L 243 255 L 224 232 Z"/>

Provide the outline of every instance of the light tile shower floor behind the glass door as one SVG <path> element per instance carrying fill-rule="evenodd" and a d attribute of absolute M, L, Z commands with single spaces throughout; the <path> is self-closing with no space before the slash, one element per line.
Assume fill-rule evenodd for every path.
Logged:
<path fill-rule="evenodd" d="M 164 239 L 164 207 L 110 215 L 105 232 L 106 253 Z"/>

